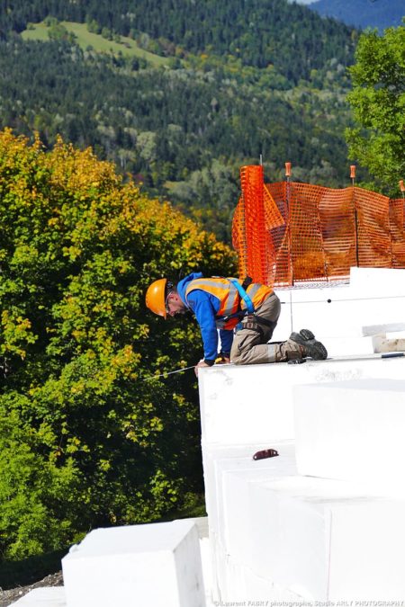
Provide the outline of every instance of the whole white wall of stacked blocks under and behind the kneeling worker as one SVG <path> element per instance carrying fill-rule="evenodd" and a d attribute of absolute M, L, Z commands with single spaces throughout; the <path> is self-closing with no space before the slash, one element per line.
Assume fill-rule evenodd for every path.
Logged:
<path fill-rule="evenodd" d="M 200 370 L 212 598 L 402 600 L 405 357 L 373 355 L 370 326 L 403 329 L 405 271 L 278 294 L 274 339 L 310 328 L 332 358 Z"/>

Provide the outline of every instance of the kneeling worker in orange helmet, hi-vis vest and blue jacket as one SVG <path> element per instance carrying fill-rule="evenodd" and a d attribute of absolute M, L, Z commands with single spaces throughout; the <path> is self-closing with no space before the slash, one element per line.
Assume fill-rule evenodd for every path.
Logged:
<path fill-rule="evenodd" d="M 286 342 L 268 344 L 280 316 L 280 299 L 271 287 L 250 279 L 242 283 L 235 278 L 203 278 L 201 272 L 193 272 L 175 285 L 162 278 L 148 287 L 146 305 L 164 318 L 187 311 L 195 314 L 204 349 L 196 372 L 211 367 L 219 355 L 221 362 L 235 364 L 288 362 L 307 356 L 323 360 L 328 356 L 309 329 L 292 333 Z"/>

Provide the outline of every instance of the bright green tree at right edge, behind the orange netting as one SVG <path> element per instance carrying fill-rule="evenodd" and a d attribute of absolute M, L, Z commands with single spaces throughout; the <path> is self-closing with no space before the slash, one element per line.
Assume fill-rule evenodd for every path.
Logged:
<path fill-rule="evenodd" d="M 405 177 L 405 27 L 383 36 L 363 33 L 350 73 L 347 97 L 358 126 L 347 129 L 349 155 L 368 168 L 377 187 L 398 195 Z"/>

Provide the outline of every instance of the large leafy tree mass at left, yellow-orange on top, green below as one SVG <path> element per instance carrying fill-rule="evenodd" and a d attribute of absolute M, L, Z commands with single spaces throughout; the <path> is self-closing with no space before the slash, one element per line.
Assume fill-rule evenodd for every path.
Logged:
<path fill-rule="evenodd" d="M 234 254 L 90 149 L 0 133 L 0 555 L 148 522 L 202 490 L 200 337 L 148 283 Z"/>

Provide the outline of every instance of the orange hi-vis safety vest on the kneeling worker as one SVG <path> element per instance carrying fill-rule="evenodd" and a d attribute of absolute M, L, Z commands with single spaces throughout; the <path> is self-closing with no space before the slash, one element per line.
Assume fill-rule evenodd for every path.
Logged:
<path fill-rule="evenodd" d="M 231 280 L 234 281 L 238 279 Z M 238 280 L 238 282 L 242 284 L 242 281 Z M 232 317 L 239 310 L 245 310 L 247 305 L 245 301 L 240 298 L 238 289 L 232 284 L 229 278 L 222 278 L 219 276 L 212 278 L 196 278 L 187 286 L 185 290 L 185 299 L 187 299 L 189 293 L 197 289 L 205 290 L 220 299 L 220 308 L 216 313 L 217 328 L 233 329 L 234 326 L 238 325 L 240 318 L 233 317 L 228 320 L 228 317 Z M 252 282 L 247 287 L 246 292 L 256 309 L 273 293 L 273 289 L 267 287 L 265 284 Z"/>

